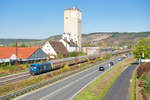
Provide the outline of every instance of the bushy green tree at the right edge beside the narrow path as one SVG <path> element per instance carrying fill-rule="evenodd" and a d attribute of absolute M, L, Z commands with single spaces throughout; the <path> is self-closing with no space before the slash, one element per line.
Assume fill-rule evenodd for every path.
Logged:
<path fill-rule="evenodd" d="M 150 40 L 146 38 L 139 40 L 133 49 L 133 55 L 137 59 L 150 59 Z"/>

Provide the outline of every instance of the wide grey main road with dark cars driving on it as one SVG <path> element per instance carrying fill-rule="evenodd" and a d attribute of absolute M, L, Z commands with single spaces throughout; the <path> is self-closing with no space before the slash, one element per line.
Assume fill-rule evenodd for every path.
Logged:
<path fill-rule="evenodd" d="M 119 62 L 119 58 L 112 60 L 114 64 Z M 101 66 L 105 67 L 105 71 L 109 69 L 109 62 L 101 64 Z M 98 68 L 99 66 L 93 66 L 78 74 L 20 96 L 15 100 L 69 100 L 89 82 L 104 73 L 98 71 Z"/>

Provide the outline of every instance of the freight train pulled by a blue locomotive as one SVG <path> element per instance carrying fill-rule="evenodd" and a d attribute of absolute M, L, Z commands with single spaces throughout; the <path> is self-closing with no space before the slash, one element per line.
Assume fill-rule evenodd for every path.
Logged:
<path fill-rule="evenodd" d="M 131 50 L 125 50 L 120 52 L 112 52 L 111 55 L 116 54 L 124 54 L 128 53 Z M 44 72 L 49 72 L 55 69 L 59 69 L 64 67 L 66 64 L 69 66 L 74 64 L 80 64 L 84 62 L 88 62 L 88 60 L 94 61 L 96 58 L 104 57 L 105 54 L 95 54 L 95 55 L 85 55 L 85 56 L 77 56 L 77 57 L 69 57 L 63 59 L 51 60 L 45 63 L 35 63 L 30 64 L 29 72 L 31 75 L 37 75 Z"/>

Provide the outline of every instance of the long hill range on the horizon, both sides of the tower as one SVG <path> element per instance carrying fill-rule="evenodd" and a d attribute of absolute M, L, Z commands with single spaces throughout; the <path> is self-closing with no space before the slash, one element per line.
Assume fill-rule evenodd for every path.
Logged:
<path fill-rule="evenodd" d="M 36 39 L 0 39 L 0 44 L 12 45 L 18 41 L 20 44 L 25 43 L 29 46 L 41 46 L 47 40 L 58 41 L 62 35 L 51 36 L 47 39 L 36 40 Z M 149 38 L 150 32 L 94 32 L 82 35 L 83 46 L 100 46 L 105 43 L 107 46 L 124 46 L 132 45 L 141 38 Z"/>

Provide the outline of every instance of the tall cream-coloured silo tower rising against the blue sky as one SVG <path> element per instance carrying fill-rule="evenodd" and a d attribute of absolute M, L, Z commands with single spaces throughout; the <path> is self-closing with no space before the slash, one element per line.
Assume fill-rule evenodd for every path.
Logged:
<path fill-rule="evenodd" d="M 81 20 L 82 13 L 78 8 L 69 8 L 64 11 L 64 33 L 70 33 L 71 40 L 78 45 L 81 51 Z"/>

